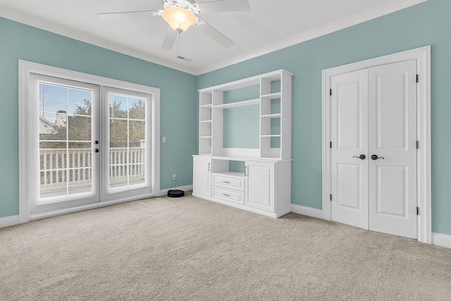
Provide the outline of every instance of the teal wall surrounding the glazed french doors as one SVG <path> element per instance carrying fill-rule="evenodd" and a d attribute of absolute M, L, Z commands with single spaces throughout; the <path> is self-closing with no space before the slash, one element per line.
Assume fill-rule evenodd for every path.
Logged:
<path fill-rule="evenodd" d="M 19 213 L 18 60 L 157 87 L 161 92 L 161 188 L 192 184 L 197 152 L 196 77 L 0 18 L 0 218 Z M 174 84 L 176 83 L 176 85 Z"/>

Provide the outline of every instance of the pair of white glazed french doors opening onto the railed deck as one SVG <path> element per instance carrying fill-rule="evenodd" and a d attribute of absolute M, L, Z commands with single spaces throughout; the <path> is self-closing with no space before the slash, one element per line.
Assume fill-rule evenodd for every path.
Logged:
<path fill-rule="evenodd" d="M 152 196 L 154 95 L 30 75 L 30 216 Z"/>

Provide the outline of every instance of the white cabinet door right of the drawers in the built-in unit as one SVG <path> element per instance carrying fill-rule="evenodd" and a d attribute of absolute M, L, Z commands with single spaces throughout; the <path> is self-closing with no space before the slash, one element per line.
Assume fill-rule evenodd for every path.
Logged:
<path fill-rule="evenodd" d="M 274 212 L 274 163 L 246 161 L 246 206 Z"/>

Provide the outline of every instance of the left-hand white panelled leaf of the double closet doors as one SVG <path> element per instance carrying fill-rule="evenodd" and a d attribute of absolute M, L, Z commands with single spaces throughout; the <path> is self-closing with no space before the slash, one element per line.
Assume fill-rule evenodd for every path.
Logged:
<path fill-rule="evenodd" d="M 368 70 L 334 76 L 331 102 L 332 219 L 367 229 Z"/>

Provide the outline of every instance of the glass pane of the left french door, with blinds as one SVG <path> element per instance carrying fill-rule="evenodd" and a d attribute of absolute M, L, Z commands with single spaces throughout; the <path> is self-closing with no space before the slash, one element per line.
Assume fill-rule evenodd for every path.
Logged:
<path fill-rule="evenodd" d="M 39 199 L 93 192 L 93 91 L 44 81 L 38 89 Z"/>

